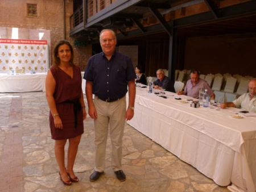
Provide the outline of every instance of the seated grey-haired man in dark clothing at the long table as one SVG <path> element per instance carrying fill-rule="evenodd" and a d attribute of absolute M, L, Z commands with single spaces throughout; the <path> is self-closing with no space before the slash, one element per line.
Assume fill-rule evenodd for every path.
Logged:
<path fill-rule="evenodd" d="M 156 71 L 156 76 L 158 77 L 158 79 L 155 80 L 153 83 L 154 89 L 162 88 L 162 89 L 165 89 L 166 91 L 175 93 L 174 84 L 172 83 L 170 78 L 164 75 L 163 69 L 158 69 Z"/>

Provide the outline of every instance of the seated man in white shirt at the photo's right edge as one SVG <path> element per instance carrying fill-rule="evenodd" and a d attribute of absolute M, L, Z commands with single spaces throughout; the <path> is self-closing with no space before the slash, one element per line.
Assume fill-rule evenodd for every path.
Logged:
<path fill-rule="evenodd" d="M 249 93 L 242 94 L 233 102 L 221 103 L 221 108 L 236 107 L 242 110 L 251 111 L 253 106 L 256 107 L 256 78 L 248 82 Z M 251 111 L 255 112 L 255 111 Z"/>

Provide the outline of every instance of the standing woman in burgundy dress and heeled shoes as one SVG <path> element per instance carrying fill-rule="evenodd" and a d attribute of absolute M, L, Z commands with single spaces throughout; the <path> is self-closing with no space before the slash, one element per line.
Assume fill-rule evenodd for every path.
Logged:
<path fill-rule="evenodd" d="M 71 185 L 79 179 L 73 172 L 77 150 L 86 118 L 81 72 L 73 64 L 74 51 L 67 40 L 60 40 L 54 50 L 53 66 L 46 77 L 46 98 L 49 105 L 49 126 L 55 140 L 55 157 L 60 180 Z M 65 166 L 64 147 L 69 140 L 68 162 Z"/>

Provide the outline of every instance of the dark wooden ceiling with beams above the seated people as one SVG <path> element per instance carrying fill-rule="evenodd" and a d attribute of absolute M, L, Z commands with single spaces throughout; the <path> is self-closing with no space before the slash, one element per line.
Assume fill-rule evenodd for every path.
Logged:
<path fill-rule="evenodd" d="M 97 30 L 113 28 L 118 40 L 256 33 L 255 0 L 134 0 L 112 3 L 84 22 L 81 36 L 98 43 Z M 111 8 L 111 9 L 107 9 Z M 84 7 L 86 9 L 86 7 Z M 100 14 L 102 12 L 102 14 Z M 94 22 L 95 21 L 95 22 Z M 92 30 L 90 30 L 92 29 Z M 72 34 L 72 31 L 71 31 Z M 87 39 L 88 40 L 88 39 Z"/>

